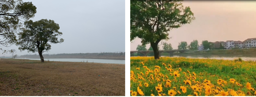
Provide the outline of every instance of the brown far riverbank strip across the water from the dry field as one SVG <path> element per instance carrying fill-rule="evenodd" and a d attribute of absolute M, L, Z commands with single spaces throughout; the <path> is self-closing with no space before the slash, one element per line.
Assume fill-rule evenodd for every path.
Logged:
<path fill-rule="evenodd" d="M 19 58 L 35 58 L 40 59 L 40 57 L 19 57 Z M 110 59 L 110 60 L 125 60 L 125 56 L 64 56 L 64 57 L 44 57 L 44 59 Z"/>

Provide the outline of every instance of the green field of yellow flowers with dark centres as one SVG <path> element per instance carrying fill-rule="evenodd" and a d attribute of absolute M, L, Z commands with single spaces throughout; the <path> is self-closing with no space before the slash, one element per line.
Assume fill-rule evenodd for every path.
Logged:
<path fill-rule="evenodd" d="M 254 96 L 256 62 L 131 57 L 131 96 Z"/>

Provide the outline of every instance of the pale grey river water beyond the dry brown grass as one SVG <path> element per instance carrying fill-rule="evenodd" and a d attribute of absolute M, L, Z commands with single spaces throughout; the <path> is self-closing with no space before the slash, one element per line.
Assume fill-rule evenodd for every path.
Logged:
<path fill-rule="evenodd" d="M 17 58 L 17 59 L 25 59 L 25 58 Z M 41 59 L 33 59 L 26 58 L 30 60 L 41 60 Z M 48 59 L 44 59 L 47 61 Z M 61 61 L 61 62 L 94 62 L 94 63 L 112 63 L 112 64 L 125 64 L 125 60 L 109 60 L 109 59 L 49 59 L 50 61 Z"/>

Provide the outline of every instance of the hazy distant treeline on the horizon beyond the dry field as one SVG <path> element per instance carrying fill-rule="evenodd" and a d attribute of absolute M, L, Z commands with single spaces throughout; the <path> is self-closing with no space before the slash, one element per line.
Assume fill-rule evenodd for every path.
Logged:
<path fill-rule="evenodd" d="M 60 54 L 43 54 L 44 57 L 61 57 L 61 56 L 125 56 L 125 52 L 100 52 L 100 53 L 60 53 Z M 20 57 L 39 57 L 37 54 L 25 54 Z"/>

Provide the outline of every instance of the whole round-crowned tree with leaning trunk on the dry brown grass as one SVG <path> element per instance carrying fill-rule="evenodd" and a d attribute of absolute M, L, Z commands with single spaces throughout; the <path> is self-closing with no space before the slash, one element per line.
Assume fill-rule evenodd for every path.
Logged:
<path fill-rule="evenodd" d="M 33 22 L 32 20 L 24 22 L 25 28 L 18 33 L 19 39 L 17 46 L 20 51 L 28 50 L 28 52 L 38 52 L 41 62 L 44 62 L 43 52 L 49 51 L 51 45 L 48 43 L 62 43 L 64 39 L 58 40 L 58 36 L 62 35 L 59 32 L 59 24 L 53 20 L 41 19 Z"/>

